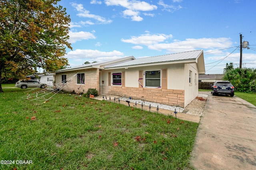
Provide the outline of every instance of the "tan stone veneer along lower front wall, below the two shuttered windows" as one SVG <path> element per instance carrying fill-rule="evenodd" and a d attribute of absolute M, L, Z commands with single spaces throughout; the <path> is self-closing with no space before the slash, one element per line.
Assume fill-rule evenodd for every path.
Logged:
<path fill-rule="evenodd" d="M 127 98 L 131 96 L 136 100 L 143 98 L 148 102 L 184 107 L 184 90 L 102 86 L 101 92 L 102 94 L 124 96 Z"/>

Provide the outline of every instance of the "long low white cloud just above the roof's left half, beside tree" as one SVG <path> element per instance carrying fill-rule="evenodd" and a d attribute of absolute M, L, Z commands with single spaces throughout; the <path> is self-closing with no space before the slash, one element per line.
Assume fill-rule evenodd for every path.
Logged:
<path fill-rule="evenodd" d="M 124 56 L 124 53 L 116 50 L 105 52 L 91 49 L 76 49 L 68 52 L 65 57 L 68 59 L 97 59 L 98 61 L 104 61 L 104 59 L 122 56 Z"/>

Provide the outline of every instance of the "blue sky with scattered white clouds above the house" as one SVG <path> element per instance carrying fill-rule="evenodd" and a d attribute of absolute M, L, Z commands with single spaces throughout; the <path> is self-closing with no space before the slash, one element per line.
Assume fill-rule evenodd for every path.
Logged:
<path fill-rule="evenodd" d="M 70 66 L 204 50 L 206 74 L 256 67 L 255 0 L 61 0 L 70 15 Z M 223 59 L 223 60 L 222 60 Z"/>

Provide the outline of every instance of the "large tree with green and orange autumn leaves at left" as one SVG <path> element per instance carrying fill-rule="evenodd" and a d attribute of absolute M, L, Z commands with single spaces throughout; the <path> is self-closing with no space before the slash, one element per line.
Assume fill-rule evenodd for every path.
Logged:
<path fill-rule="evenodd" d="M 0 0 L 0 92 L 2 76 L 21 79 L 68 64 L 70 16 L 58 1 Z"/>

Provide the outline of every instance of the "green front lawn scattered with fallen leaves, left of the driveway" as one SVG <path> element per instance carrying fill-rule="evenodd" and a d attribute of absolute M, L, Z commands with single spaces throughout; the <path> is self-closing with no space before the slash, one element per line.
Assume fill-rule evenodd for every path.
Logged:
<path fill-rule="evenodd" d="M 28 92 L 0 93 L 0 160 L 32 164 L 0 169 L 193 169 L 198 123 L 76 94 L 20 100 Z"/>

